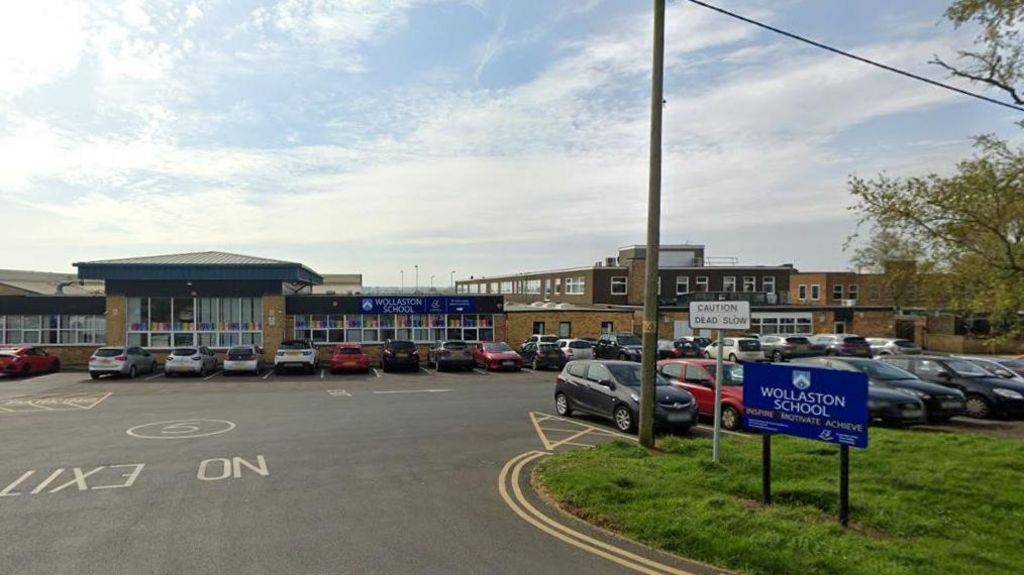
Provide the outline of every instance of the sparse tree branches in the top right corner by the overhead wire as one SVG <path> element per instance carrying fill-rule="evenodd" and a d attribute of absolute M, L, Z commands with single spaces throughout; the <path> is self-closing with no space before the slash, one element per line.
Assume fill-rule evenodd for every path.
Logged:
<path fill-rule="evenodd" d="M 1024 104 L 1024 0 L 956 0 L 945 11 L 946 19 L 959 28 L 967 24 L 981 27 L 975 38 L 976 49 L 959 50 L 959 67 L 935 56 L 950 76 L 966 78 L 1001 90 L 1017 104 Z"/>

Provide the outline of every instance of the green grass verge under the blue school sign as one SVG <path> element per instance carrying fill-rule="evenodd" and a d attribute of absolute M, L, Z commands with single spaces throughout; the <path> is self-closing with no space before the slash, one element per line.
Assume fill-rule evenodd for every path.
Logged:
<path fill-rule="evenodd" d="M 760 439 L 614 442 L 546 459 L 541 485 L 581 517 L 745 573 L 1024 573 L 1024 442 L 872 430 L 851 449 L 851 528 L 839 526 L 839 448 L 776 437 L 774 504 Z"/>

